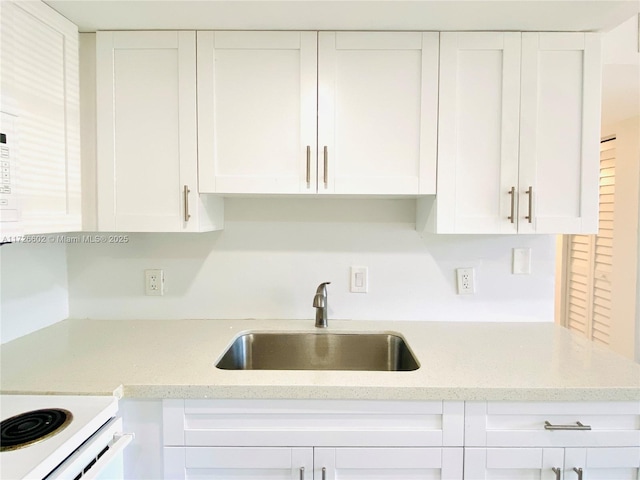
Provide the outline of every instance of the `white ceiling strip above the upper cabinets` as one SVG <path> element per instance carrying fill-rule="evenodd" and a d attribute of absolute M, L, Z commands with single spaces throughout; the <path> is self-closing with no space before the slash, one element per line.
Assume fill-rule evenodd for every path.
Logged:
<path fill-rule="evenodd" d="M 606 31 L 637 0 L 45 0 L 96 30 Z"/>

